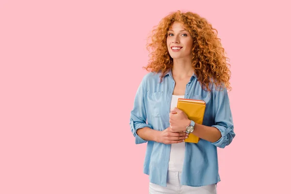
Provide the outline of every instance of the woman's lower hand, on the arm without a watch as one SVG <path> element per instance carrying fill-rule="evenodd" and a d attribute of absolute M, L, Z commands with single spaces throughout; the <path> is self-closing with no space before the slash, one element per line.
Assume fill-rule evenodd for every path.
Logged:
<path fill-rule="evenodd" d="M 158 142 L 163 144 L 177 144 L 185 141 L 187 137 L 188 133 L 175 132 L 171 127 L 168 127 L 167 129 L 160 131 Z"/>

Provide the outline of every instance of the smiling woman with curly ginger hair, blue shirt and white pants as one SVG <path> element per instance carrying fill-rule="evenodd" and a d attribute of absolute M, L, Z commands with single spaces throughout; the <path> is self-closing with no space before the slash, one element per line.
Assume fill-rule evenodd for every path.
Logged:
<path fill-rule="evenodd" d="M 229 145 L 235 133 L 230 70 L 213 30 L 205 18 L 178 11 L 162 19 L 147 44 L 150 72 L 137 90 L 130 128 L 136 144 L 147 142 L 144 173 L 152 194 L 216 194 L 217 147 Z M 202 125 L 176 107 L 179 97 L 206 102 Z M 197 144 L 184 142 L 192 126 Z"/>

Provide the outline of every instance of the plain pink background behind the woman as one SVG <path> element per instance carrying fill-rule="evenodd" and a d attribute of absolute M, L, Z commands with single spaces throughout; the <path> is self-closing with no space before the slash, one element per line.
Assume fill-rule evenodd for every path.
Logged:
<path fill-rule="evenodd" d="M 230 58 L 218 194 L 290 191 L 286 2 L 1 0 L 0 194 L 148 193 L 129 115 L 146 37 L 178 9 L 206 17 Z"/>

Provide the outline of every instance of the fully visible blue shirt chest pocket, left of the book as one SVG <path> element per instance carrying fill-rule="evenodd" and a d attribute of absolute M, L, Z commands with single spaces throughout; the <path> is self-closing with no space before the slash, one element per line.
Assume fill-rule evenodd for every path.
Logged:
<path fill-rule="evenodd" d="M 154 117 L 161 116 L 162 95 L 163 92 L 147 92 L 148 113 Z"/>

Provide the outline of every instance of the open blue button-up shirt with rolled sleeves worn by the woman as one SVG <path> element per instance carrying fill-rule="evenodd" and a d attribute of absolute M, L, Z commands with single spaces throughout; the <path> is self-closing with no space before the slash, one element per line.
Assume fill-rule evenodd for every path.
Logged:
<path fill-rule="evenodd" d="M 169 113 L 175 81 L 171 70 L 161 83 L 160 75 L 150 72 L 144 76 L 134 98 L 129 124 L 135 143 L 147 143 L 144 173 L 149 175 L 150 182 L 166 186 L 171 144 L 146 141 L 136 133 L 137 129 L 144 127 L 162 131 L 170 126 Z M 201 138 L 197 144 L 186 142 L 180 180 L 182 185 L 197 187 L 219 182 L 217 147 L 224 148 L 235 137 L 227 90 L 217 91 L 214 84 L 211 87 L 211 92 L 203 90 L 193 74 L 186 85 L 185 98 L 206 102 L 202 124 L 219 129 L 222 137 L 213 143 Z"/>

